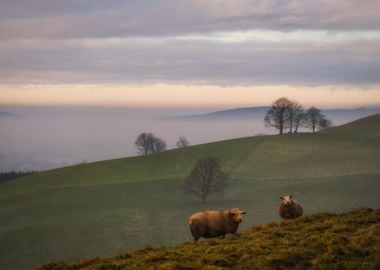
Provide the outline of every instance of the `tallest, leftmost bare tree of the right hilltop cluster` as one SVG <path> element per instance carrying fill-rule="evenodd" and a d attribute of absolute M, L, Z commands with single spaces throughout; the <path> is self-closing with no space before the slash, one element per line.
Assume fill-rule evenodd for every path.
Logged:
<path fill-rule="evenodd" d="M 292 101 L 282 97 L 273 102 L 272 107 L 268 110 L 264 123 L 267 127 L 274 127 L 279 130 L 280 134 L 289 127 L 288 110 Z"/>

